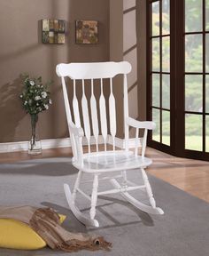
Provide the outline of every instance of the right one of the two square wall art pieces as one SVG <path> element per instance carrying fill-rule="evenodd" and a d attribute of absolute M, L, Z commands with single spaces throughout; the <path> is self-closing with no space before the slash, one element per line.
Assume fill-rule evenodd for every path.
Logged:
<path fill-rule="evenodd" d="M 98 21 L 75 20 L 75 43 L 98 44 Z"/>

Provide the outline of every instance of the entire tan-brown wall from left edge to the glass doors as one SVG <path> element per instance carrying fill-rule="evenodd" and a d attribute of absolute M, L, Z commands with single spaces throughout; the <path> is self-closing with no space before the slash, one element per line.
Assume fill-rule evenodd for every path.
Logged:
<path fill-rule="evenodd" d="M 128 10 L 130 12 L 128 12 Z M 66 44 L 41 43 L 41 20 L 66 20 Z M 99 20 L 99 44 L 74 43 L 74 20 Z M 0 142 L 28 140 L 30 120 L 18 98 L 19 74 L 53 79 L 50 110 L 40 115 L 41 139 L 68 136 L 63 97 L 55 67 L 59 62 L 128 60 L 130 116 L 146 119 L 146 1 L 144 0 L 1 0 L 0 1 Z M 123 136 L 121 80 L 117 135 Z"/>

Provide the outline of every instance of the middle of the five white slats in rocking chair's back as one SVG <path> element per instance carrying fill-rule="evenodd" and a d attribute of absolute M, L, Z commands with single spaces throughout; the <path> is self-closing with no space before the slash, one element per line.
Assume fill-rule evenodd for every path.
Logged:
<path fill-rule="evenodd" d="M 91 96 L 90 96 L 90 111 L 93 135 L 96 140 L 96 148 L 98 151 L 98 115 L 97 115 L 97 100 L 94 94 L 94 81 L 91 79 Z"/>

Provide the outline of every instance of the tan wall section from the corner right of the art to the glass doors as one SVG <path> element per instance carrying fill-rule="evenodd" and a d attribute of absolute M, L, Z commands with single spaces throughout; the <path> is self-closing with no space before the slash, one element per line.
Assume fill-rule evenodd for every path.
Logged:
<path fill-rule="evenodd" d="M 129 116 L 146 120 L 146 1 L 110 0 L 110 59 L 127 60 L 132 65 L 128 74 Z M 116 33 L 117 32 L 117 33 Z M 120 89 L 121 81 L 117 88 Z M 123 136 L 122 95 L 118 136 Z M 135 131 L 131 131 L 134 135 Z"/>

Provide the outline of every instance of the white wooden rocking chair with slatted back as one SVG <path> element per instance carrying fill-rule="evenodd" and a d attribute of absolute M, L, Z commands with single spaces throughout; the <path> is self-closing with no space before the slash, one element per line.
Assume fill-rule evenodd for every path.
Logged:
<path fill-rule="evenodd" d="M 153 122 L 139 122 L 128 116 L 128 84 L 127 84 L 127 74 L 131 71 L 131 65 L 127 61 L 122 62 L 98 62 L 98 63 L 70 63 L 70 64 L 58 64 L 57 74 L 61 77 L 62 87 L 64 92 L 64 100 L 66 107 L 66 118 L 70 133 L 70 139 L 72 143 L 73 150 L 73 164 L 74 167 L 78 169 L 78 176 L 74 184 L 73 194 L 67 184 L 64 185 L 66 200 L 69 204 L 71 211 L 74 213 L 75 217 L 80 220 L 83 224 L 87 226 L 99 227 L 98 221 L 95 219 L 96 206 L 97 206 L 97 196 L 120 193 L 130 204 L 133 204 L 136 208 L 142 210 L 143 212 L 153 213 L 153 214 L 163 214 L 164 212 L 156 207 L 155 199 L 151 191 L 151 185 L 149 183 L 148 177 L 144 168 L 151 164 L 151 159 L 144 157 L 146 148 L 147 131 L 155 128 Z M 125 147 L 120 150 L 116 149 L 116 101 L 113 96 L 112 91 L 112 78 L 119 74 L 123 75 L 123 105 L 124 105 L 124 128 L 125 128 Z M 65 77 L 68 76 L 73 79 L 74 82 L 74 97 L 73 97 L 73 110 L 74 110 L 74 122 L 72 121 L 71 110 L 69 106 L 69 100 L 66 91 L 66 81 Z M 107 112 L 104 99 L 104 84 L 103 79 L 109 78 L 108 85 L 110 86 L 109 95 L 109 122 L 110 122 L 110 134 L 108 134 L 107 125 Z M 94 80 L 94 79 L 99 79 Z M 82 97 L 81 97 L 81 113 L 84 124 L 85 139 L 89 148 L 88 153 L 83 153 L 83 138 L 84 132 L 81 128 L 81 116 L 79 109 L 79 102 L 76 96 L 76 87 L 79 84 L 76 83 L 77 80 L 81 80 L 82 83 Z M 85 94 L 86 80 L 90 80 L 91 86 L 91 96 L 90 102 Z M 96 83 L 97 82 L 97 83 Z M 101 86 L 101 94 L 98 102 L 99 109 L 97 110 L 97 100 L 94 95 L 95 86 Z M 90 106 L 90 109 L 89 109 Z M 89 116 L 89 110 L 91 115 Z M 100 124 L 101 124 L 101 135 L 99 135 L 99 125 L 98 125 L 98 112 L 100 114 Z M 90 118 L 91 117 L 91 118 Z M 91 119 L 91 122 L 90 122 Z M 138 156 L 139 143 L 135 143 L 135 150 L 131 151 L 128 147 L 129 141 L 129 126 L 135 128 L 135 137 L 138 139 L 139 129 L 143 129 L 143 143 L 142 143 L 142 155 Z M 91 136 L 91 130 L 93 136 Z M 92 138 L 96 142 L 97 152 L 90 151 L 90 144 Z M 104 142 L 104 150 L 99 151 L 98 144 L 101 142 L 101 138 Z M 136 140 L 139 141 L 139 140 Z M 100 143 L 101 144 L 101 143 Z M 112 150 L 107 150 L 107 144 L 112 145 Z M 119 148 L 119 147 L 117 147 Z M 138 169 L 142 172 L 143 185 L 137 185 L 135 182 L 128 180 L 127 172 L 128 170 Z M 93 186 L 91 196 L 87 195 L 81 189 L 81 177 L 82 173 L 89 173 L 89 176 L 93 176 Z M 104 176 L 101 174 L 108 174 L 108 172 L 113 172 L 113 176 Z M 110 175 L 110 174 L 109 174 Z M 104 176 L 103 178 L 100 178 Z M 99 179 L 100 178 L 100 179 Z M 119 178 L 123 181 L 120 182 Z M 98 191 L 98 182 L 100 180 L 110 180 L 112 184 L 112 189 L 106 191 Z M 121 184 L 120 184 L 121 183 Z M 131 196 L 128 191 L 133 191 L 135 189 L 144 190 L 150 205 L 143 204 L 139 200 Z M 75 205 L 75 199 L 77 192 L 81 193 L 90 201 L 90 211 L 89 218 L 81 212 Z"/>

